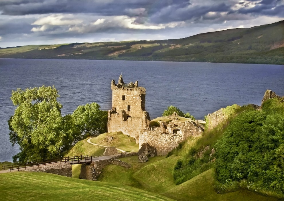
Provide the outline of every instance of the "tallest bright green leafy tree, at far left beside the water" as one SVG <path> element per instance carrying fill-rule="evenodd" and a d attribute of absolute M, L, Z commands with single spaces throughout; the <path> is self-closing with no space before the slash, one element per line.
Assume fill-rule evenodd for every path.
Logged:
<path fill-rule="evenodd" d="M 62 105 L 58 97 L 54 86 L 12 91 L 11 100 L 17 108 L 8 121 L 9 136 L 12 145 L 19 144 L 21 150 L 13 161 L 52 158 L 64 151 L 66 135 L 60 130 Z"/>

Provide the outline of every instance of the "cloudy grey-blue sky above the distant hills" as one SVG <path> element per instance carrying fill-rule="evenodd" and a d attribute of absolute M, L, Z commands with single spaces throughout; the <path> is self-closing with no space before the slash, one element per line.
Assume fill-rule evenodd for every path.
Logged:
<path fill-rule="evenodd" d="M 284 19 L 284 0 L 0 0 L 0 47 L 162 40 Z"/>

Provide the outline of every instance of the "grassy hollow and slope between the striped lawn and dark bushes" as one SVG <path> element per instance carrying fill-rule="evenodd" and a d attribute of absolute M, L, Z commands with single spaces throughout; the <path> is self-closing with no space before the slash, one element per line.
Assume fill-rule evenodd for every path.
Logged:
<path fill-rule="evenodd" d="M 132 165 L 126 169 L 116 165 L 105 167 L 98 178 L 99 181 L 113 184 L 129 185 L 148 192 L 158 193 L 169 198 L 181 201 L 187 200 L 259 200 L 276 201 L 275 197 L 269 197 L 255 192 L 239 189 L 235 192 L 218 194 L 214 188 L 214 170 L 210 169 L 198 176 L 175 185 L 172 170 L 179 156 L 154 157 L 146 163 L 138 163 L 137 157 L 132 156 L 121 160 Z"/>

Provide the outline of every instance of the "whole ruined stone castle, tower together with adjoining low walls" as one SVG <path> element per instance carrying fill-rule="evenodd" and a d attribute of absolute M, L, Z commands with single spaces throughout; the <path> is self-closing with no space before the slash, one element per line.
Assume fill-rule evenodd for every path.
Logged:
<path fill-rule="evenodd" d="M 157 155 L 166 155 L 189 136 L 199 136 L 204 127 L 177 114 L 169 116 L 169 122 L 159 121 L 159 126 L 150 126 L 145 110 L 146 89 L 138 81 L 124 83 L 120 75 L 118 83 L 111 81 L 112 109 L 108 111 L 108 132 L 121 131 L 135 138 L 136 143 L 148 143 L 157 150 Z"/>

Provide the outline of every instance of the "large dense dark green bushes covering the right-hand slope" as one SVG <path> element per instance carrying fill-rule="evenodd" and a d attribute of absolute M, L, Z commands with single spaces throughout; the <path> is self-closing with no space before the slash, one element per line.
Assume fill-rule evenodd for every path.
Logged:
<path fill-rule="evenodd" d="M 247 180 L 283 194 L 283 102 L 280 106 L 279 99 L 270 99 L 262 111 L 243 112 L 231 121 L 215 146 L 216 172 L 221 183 Z"/>

